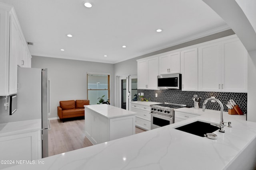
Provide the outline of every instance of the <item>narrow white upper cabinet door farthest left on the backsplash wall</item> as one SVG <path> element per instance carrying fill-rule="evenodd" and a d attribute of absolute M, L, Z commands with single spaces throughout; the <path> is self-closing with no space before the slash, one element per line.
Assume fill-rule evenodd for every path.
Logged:
<path fill-rule="evenodd" d="M 148 84 L 148 61 L 138 61 L 138 89 L 146 89 Z"/>

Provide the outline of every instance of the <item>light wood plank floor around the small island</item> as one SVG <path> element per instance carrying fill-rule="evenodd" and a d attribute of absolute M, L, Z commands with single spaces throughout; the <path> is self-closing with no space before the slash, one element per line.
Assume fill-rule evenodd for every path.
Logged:
<path fill-rule="evenodd" d="M 84 119 L 70 120 L 62 123 L 60 119 L 50 120 L 51 129 L 48 130 L 49 156 L 92 146 L 84 135 Z M 144 132 L 136 127 L 135 133 Z"/>

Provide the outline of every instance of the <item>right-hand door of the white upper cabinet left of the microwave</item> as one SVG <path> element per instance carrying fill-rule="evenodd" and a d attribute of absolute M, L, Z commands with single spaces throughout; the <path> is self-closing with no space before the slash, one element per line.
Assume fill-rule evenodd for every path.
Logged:
<path fill-rule="evenodd" d="M 148 60 L 148 84 L 147 89 L 157 89 L 158 57 Z"/>

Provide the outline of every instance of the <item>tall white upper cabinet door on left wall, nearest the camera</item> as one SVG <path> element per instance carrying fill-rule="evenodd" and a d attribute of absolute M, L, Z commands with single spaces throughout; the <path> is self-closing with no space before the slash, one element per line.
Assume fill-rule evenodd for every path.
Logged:
<path fill-rule="evenodd" d="M 10 15 L 10 53 L 9 53 L 9 94 L 17 93 L 17 41 L 19 39 L 18 24 Z"/>

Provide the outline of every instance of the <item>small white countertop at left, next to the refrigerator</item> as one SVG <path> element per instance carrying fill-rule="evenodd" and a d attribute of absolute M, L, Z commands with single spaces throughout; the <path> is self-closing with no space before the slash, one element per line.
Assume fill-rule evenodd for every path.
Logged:
<path fill-rule="evenodd" d="M 41 119 L 0 123 L 0 137 L 29 133 L 42 129 Z"/>

